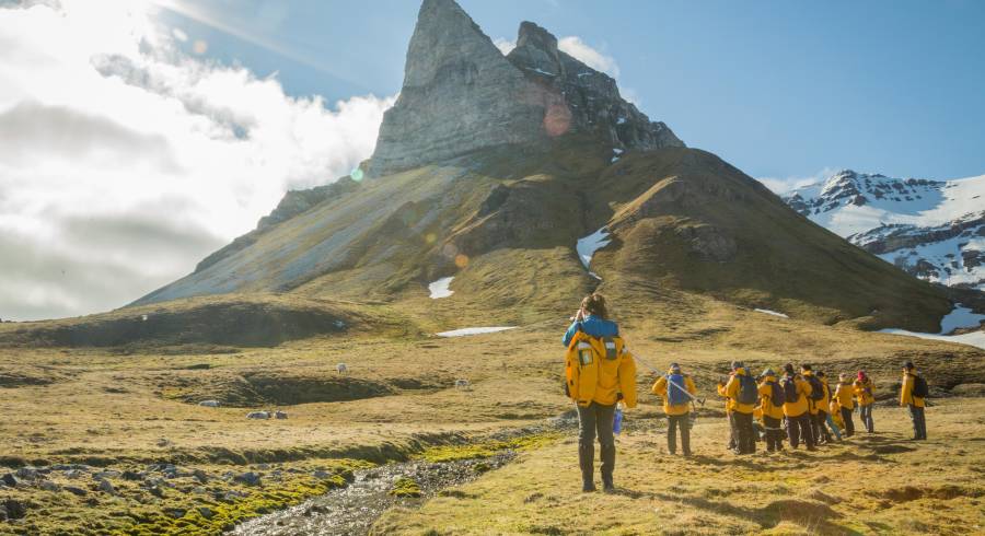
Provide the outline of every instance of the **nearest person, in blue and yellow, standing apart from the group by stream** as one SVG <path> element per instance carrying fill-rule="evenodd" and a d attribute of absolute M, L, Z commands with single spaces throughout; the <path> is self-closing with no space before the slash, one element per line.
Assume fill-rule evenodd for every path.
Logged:
<path fill-rule="evenodd" d="M 609 319 L 602 294 L 581 301 L 571 327 L 564 336 L 565 392 L 578 411 L 578 462 L 582 491 L 594 491 L 595 436 L 602 457 L 602 489 L 614 491 L 616 404 L 636 407 L 636 362 L 619 337 L 619 327 Z"/>

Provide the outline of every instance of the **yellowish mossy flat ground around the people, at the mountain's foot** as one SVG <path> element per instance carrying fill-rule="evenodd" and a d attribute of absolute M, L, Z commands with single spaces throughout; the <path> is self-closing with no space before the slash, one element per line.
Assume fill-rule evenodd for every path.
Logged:
<path fill-rule="evenodd" d="M 652 308 L 622 306 L 618 295 L 614 296 L 614 313 L 621 322 L 622 331 L 630 350 L 640 358 L 640 393 L 646 393 L 654 378 L 642 364 L 644 361 L 661 371 L 672 361 L 682 363 L 686 372 L 694 376 L 699 394 L 709 399 L 715 398 L 715 381 L 732 359 L 743 359 L 754 368 L 776 368 L 787 361 L 811 362 L 830 374 L 865 368 L 874 377 L 877 394 L 883 399 L 892 398 L 899 382 L 899 366 L 904 359 L 916 360 L 930 380 L 931 388 L 941 395 L 947 395 L 949 389 L 959 385 L 985 383 L 985 352 L 970 347 L 775 318 L 695 294 L 667 291 L 656 303 L 659 305 Z M 571 308 L 576 305 L 573 303 Z M 432 323 L 429 329 L 463 327 L 451 324 L 455 308 L 453 304 L 433 306 L 437 313 L 427 319 Z M 424 322 L 427 316 L 425 305 L 416 311 L 413 315 Z M 478 315 L 477 310 L 475 314 Z M 472 317 L 466 315 L 463 318 Z M 522 317 L 517 319 L 522 321 Z M 457 339 L 419 335 L 398 338 L 373 335 L 316 337 L 275 348 L 0 349 L 0 413 L 4 416 L 0 420 L 0 436 L 3 438 L 0 466 L 16 468 L 23 465 L 82 463 L 124 470 L 142 468 L 152 463 L 173 463 L 221 476 L 230 470 L 257 470 L 254 469 L 257 464 L 281 464 L 278 467 L 283 470 L 283 477 L 278 481 L 268 475 L 273 469 L 259 469 L 265 473 L 262 488 L 221 479 L 213 479 L 204 486 L 209 491 L 212 491 L 210 487 L 217 487 L 248 493 L 229 503 L 217 501 L 211 492 L 195 491 L 196 486 L 190 482 L 179 486 L 186 487 L 187 491 L 165 488 L 163 498 L 139 488 L 139 482 L 119 479 L 111 479 L 120 491 L 119 497 L 92 489 L 86 497 L 76 498 L 65 491 L 48 492 L 36 487 L 4 488 L 0 497 L 24 500 L 28 503 L 28 510 L 24 520 L 0 524 L 0 533 L 105 534 L 132 531 L 141 525 L 148 531 L 173 529 L 178 522 L 184 525 L 178 528 L 189 534 L 195 531 L 207 533 L 324 491 L 326 486 L 334 485 L 332 480 L 312 480 L 311 474 L 320 465 L 329 466 L 332 461 L 379 464 L 392 459 L 405 461 L 415 455 L 432 461 L 462 459 L 487 456 L 505 446 L 525 450 L 521 453 L 521 463 L 489 471 L 470 486 L 499 482 L 490 479 L 512 475 L 515 489 L 505 488 L 502 483 L 494 486 L 505 493 L 497 499 L 502 504 L 517 501 L 526 504 L 523 500 L 528 497 L 545 493 L 538 490 L 556 491 L 552 492 L 553 499 L 545 499 L 544 502 L 537 502 L 537 498 L 531 499 L 531 504 L 535 503 L 537 509 L 536 515 L 531 514 L 531 521 L 517 517 L 533 508 L 524 505 L 519 508 L 518 513 L 505 517 L 509 523 L 505 521 L 503 524 L 490 526 L 502 532 L 543 532 L 552 531 L 554 526 L 575 531 L 580 525 L 571 521 L 578 518 L 571 509 L 583 498 L 564 494 L 568 493 L 570 485 L 570 475 L 565 471 L 575 467 L 573 451 L 566 443 L 569 440 L 558 442 L 555 438 L 537 435 L 515 442 L 502 439 L 499 442 L 479 441 L 474 445 L 457 446 L 474 438 L 502 438 L 494 434 L 526 427 L 570 409 L 560 381 L 563 348 L 559 338 L 565 324 L 564 319 L 540 322 L 512 331 Z M 335 366 L 339 362 L 347 363 L 348 374 L 336 372 Z M 265 380 L 258 383 L 257 377 L 269 378 L 270 382 Z M 468 380 L 471 391 L 454 388 L 457 378 Z M 325 400 L 337 401 L 278 403 L 274 399 L 275 393 L 258 391 L 269 384 L 279 384 L 285 391 L 293 391 L 299 385 L 321 385 L 332 393 L 332 397 Z M 385 385 L 387 392 L 367 392 L 363 395 L 368 397 L 359 398 L 362 392 L 356 391 L 357 385 L 364 384 Z M 335 397 L 339 393 L 355 394 L 357 397 L 339 399 Z M 197 399 L 194 397 L 218 398 L 242 407 L 199 407 L 194 404 Z M 641 399 L 640 408 L 630 413 L 629 427 L 633 419 L 646 421 L 660 415 L 657 400 L 646 395 Z M 970 408 L 978 408 L 974 399 L 965 404 Z M 955 406 L 948 403 L 941 407 Z M 252 409 L 282 409 L 287 411 L 288 419 L 247 420 L 245 415 Z M 890 421 L 891 413 L 887 411 L 885 415 L 885 420 Z M 981 434 L 985 422 L 965 418 L 960 426 L 955 424 L 953 433 L 955 436 L 965 434 L 966 440 L 961 444 L 947 443 L 942 433 L 934 431 L 937 423 L 943 422 L 935 420 L 934 415 L 931 412 L 930 417 L 934 459 L 945 459 L 947 456 L 976 459 L 981 454 L 976 448 L 985 443 L 975 441 L 973 434 Z M 892 417 L 894 422 L 904 419 L 902 415 Z M 717 456 L 721 453 L 723 432 L 720 423 L 711 424 L 712 420 L 706 416 L 698 423 L 699 436 L 717 436 L 714 441 L 715 456 L 708 455 L 711 461 L 704 465 L 697 461 L 664 462 L 659 456 L 660 439 L 631 433 L 625 435 L 621 467 L 637 465 L 646 467 L 647 471 L 634 477 L 627 470 L 623 474 L 624 482 L 628 486 L 633 479 L 638 482 L 649 479 L 657 483 L 647 493 L 667 493 L 662 488 L 657 489 L 658 483 L 661 487 L 683 486 L 676 481 L 668 483 L 669 479 L 677 478 L 673 471 L 683 467 L 703 475 L 703 489 L 731 489 L 737 486 L 734 475 L 739 470 L 745 471 L 742 473 L 743 478 L 763 486 L 789 486 L 785 479 L 801 478 L 798 476 L 798 464 L 811 463 L 791 457 L 790 465 L 783 466 L 786 468 L 774 476 L 769 470 L 756 471 L 744 467 L 744 461 L 732 463 L 725 455 Z M 703 427 L 712 428 L 705 432 Z M 895 431 L 884 430 L 902 433 L 900 427 Z M 711 448 L 703 447 L 705 452 L 712 452 Z M 961 456 L 962 451 L 965 457 L 955 458 Z M 943 511 L 939 509 L 940 504 L 948 505 L 932 502 L 948 493 L 941 491 L 941 486 L 946 483 L 943 480 L 927 479 L 914 483 L 900 471 L 883 470 L 885 467 L 899 468 L 904 462 L 916 463 L 916 453 L 926 451 L 878 454 L 883 465 L 865 458 L 871 451 L 846 448 L 844 452 L 842 457 L 830 459 L 824 469 L 831 473 L 827 478 L 832 481 L 838 478 L 857 479 L 853 471 L 867 470 L 885 489 L 912 485 L 918 491 L 906 493 L 919 494 L 922 499 L 907 501 L 906 505 L 919 512 L 916 516 L 919 520 L 929 520 L 931 514 Z M 292 467 L 302 473 L 288 473 Z M 941 474 L 941 479 L 949 479 L 949 475 L 959 479 L 963 478 L 962 475 L 981 478 L 980 469 L 973 467 L 953 470 L 948 467 Z M 683 476 L 680 479 L 684 482 Z M 94 486 L 91 477 L 85 477 L 84 487 Z M 827 487 L 823 488 L 828 493 Z M 965 488 L 967 486 L 962 490 Z M 463 493 L 473 493 L 470 489 L 464 488 Z M 767 491 L 765 488 L 757 489 L 761 493 Z M 692 491 L 687 491 L 694 496 L 692 499 L 705 501 L 717 499 L 699 493 L 720 492 Z M 657 496 L 645 497 L 663 501 Z M 616 504 L 625 505 L 621 501 L 630 499 L 618 498 Z M 596 508 L 610 508 L 601 499 L 591 500 L 596 502 Z M 775 526 L 757 521 L 737 521 L 743 515 L 756 520 L 778 515 L 769 512 L 778 512 L 781 503 L 774 504 L 772 510 L 763 510 L 776 500 L 779 499 L 755 503 L 755 506 L 740 504 L 735 508 L 745 510 L 733 510 L 732 514 L 723 517 L 708 509 L 697 508 L 693 518 L 682 517 L 674 526 L 710 532 L 718 521 L 731 520 L 726 526 L 734 527 L 730 529 L 732 532 L 781 531 L 788 526 L 786 521 Z M 877 497 L 868 500 L 877 504 L 892 499 Z M 490 518 L 488 516 L 498 518 L 500 515 L 473 508 L 467 500 L 457 502 L 451 496 L 434 501 L 433 505 L 429 502 L 421 511 L 421 515 L 428 516 L 427 520 L 408 516 L 407 524 L 402 525 L 394 521 L 395 517 L 387 516 L 381 526 L 409 532 L 418 528 L 449 532 L 448 527 L 459 526 L 459 516 L 475 516 L 474 521 L 478 524 L 484 518 Z M 668 504 L 680 501 L 668 499 Z M 642 502 L 630 504 L 636 504 L 633 506 L 636 509 Z M 858 504 L 862 504 L 861 498 Z M 206 523 L 198 520 L 198 506 L 218 512 L 215 521 Z M 834 511 L 841 509 L 839 505 L 831 508 Z M 181 520 L 171 517 L 167 511 L 174 510 L 185 510 L 185 516 Z M 880 512 L 874 511 L 873 515 L 881 518 Z M 974 518 L 969 517 L 965 506 L 955 506 L 948 514 L 954 518 Z M 618 510 L 612 510 L 611 515 L 603 516 L 611 520 L 609 525 L 586 526 L 610 532 L 626 527 L 625 531 L 630 533 L 634 529 L 646 532 L 650 527 L 642 524 L 647 521 L 642 513 L 633 515 L 636 517 L 621 517 Z M 846 520 L 851 518 L 847 513 L 843 515 Z M 564 523 L 558 525 L 557 520 Z M 926 520 L 919 523 L 935 528 L 943 526 Z M 827 522 L 849 528 L 855 526 L 833 518 L 827 518 Z M 462 526 L 468 531 L 479 531 L 475 528 L 478 525 Z M 873 528 L 869 532 L 879 531 Z"/>

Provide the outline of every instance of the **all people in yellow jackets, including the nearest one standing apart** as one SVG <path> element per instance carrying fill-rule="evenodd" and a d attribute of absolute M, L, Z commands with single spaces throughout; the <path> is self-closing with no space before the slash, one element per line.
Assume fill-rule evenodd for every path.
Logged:
<path fill-rule="evenodd" d="M 576 403 L 578 411 L 578 461 L 582 489 L 594 491 L 594 443 L 601 447 L 602 487 L 612 491 L 615 468 L 615 432 L 613 423 L 619 405 L 634 408 L 636 394 L 636 360 L 619 337 L 618 325 L 610 319 L 605 298 L 593 293 L 582 300 L 564 336 L 565 393 Z M 657 372 L 657 371 L 654 371 Z M 758 376 L 740 361 L 731 363 L 728 377 L 718 382 L 718 394 L 726 398 L 726 412 L 731 429 L 729 445 L 735 454 L 752 454 L 757 441 L 765 441 L 767 452 L 784 450 L 801 443 L 808 451 L 819 444 L 842 441 L 855 434 L 853 415 L 858 408 L 862 426 L 874 433 L 872 407 L 876 386 L 865 371 L 855 375 L 838 374 L 832 392 L 823 371 L 810 364 L 799 370 L 792 363 L 781 373 L 766 369 Z M 663 400 L 667 413 L 667 446 L 671 454 L 681 451 L 690 456 L 692 410 L 697 398 L 694 380 L 672 363 L 661 374 L 652 393 Z M 909 408 L 914 440 L 927 439 L 924 417 L 927 382 L 912 361 L 903 365 L 900 405 Z"/>

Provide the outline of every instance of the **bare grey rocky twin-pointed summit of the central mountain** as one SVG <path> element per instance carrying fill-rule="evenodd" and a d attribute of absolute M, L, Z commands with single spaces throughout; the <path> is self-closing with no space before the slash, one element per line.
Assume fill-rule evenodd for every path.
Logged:
<path fill-rule="evenodd" d="M 425 0 L 369 174 L 573 132 L 619 149 L 683 147 L 624 101 L 613 79 L 559 51 L 546 30 L 524 22 L 517 44 L 505 57 L 453 0 Z"/>

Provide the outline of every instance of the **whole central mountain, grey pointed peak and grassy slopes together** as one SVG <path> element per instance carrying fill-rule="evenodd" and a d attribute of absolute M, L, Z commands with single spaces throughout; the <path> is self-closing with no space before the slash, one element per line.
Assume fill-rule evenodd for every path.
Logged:
<path fill-rule="evenodd" d="M 942 289 L 684 147 L 544 28 L 521 24 L 503 56 L 451 0 L 425 0 L 363 168 L 362 180 L 289 194 L 137 305 L 274 293 L 385 306 L 438 330 L 557 321 L 600 289 L 626 315 L 680 315 L 692 307 L 681 296 L 700 295 L 930 333 L 953 308 Z M 439 281 L 450 292 L 429 298 Z"/>

